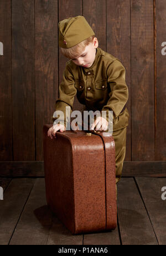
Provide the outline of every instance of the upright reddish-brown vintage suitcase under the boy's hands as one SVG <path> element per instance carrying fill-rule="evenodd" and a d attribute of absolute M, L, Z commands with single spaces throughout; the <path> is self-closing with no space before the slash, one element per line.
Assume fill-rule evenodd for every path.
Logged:
<path fill-rule="evenodd" d="M 72 234 L 117 225 L 115 142 L 103 132 L 56 132 L 43 127 L 46 201 Z"/>

